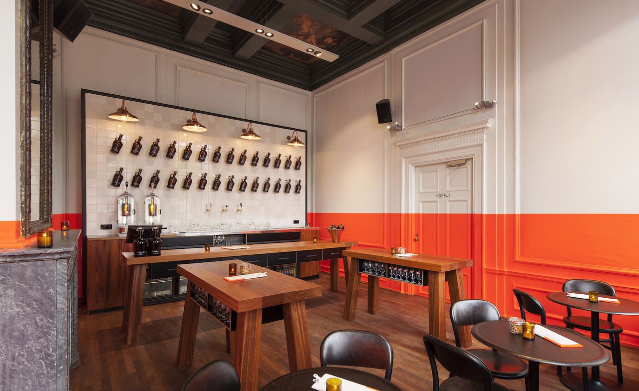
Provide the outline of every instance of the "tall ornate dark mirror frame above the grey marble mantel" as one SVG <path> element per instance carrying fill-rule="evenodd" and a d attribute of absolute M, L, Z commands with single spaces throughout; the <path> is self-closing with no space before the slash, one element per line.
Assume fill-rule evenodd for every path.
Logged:
<path fill-rule="evenodd" d="M 20 1 L 20 215 L 25 238 L 52 225 L 53 4 L 40 0 L 40 213 L 31 220 L 31 0 Z"/>

